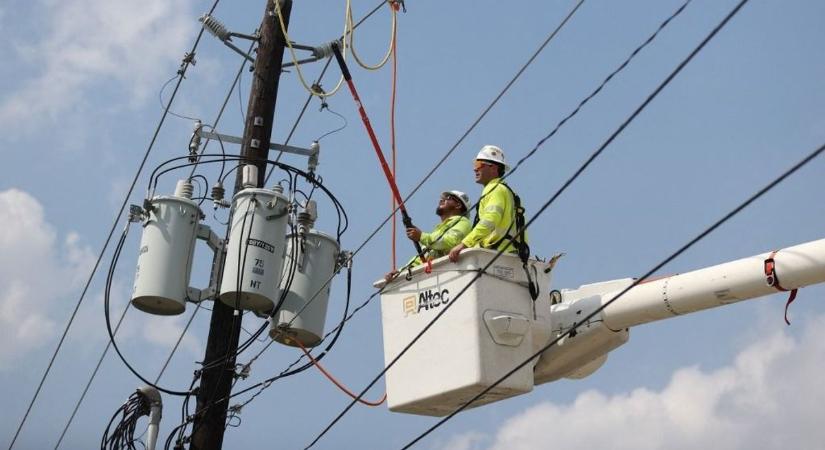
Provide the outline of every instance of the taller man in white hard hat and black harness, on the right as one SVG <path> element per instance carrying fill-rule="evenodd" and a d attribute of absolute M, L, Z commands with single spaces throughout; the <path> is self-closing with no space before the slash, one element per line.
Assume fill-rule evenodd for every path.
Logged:
<path fill-rule="evenodd" d="M 524 209 L 521 200 L 501 177 L 508 169 L 504 152 L 485 145 L 478 152 L 473 164 L 476 183 L 484 186 L 478 203 L 473 229 L 450 250 L 450 261 L 457 262 L 461 251 L 468 247 L 504 250 L 519 253 L 523 260 L 530 254 L 527 236 L 515 237 L 516 230 L 524 226 Z"/>

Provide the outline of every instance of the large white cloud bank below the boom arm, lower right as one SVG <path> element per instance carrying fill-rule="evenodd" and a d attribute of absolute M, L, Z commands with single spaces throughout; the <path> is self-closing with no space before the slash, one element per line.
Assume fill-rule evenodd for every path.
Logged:
<path fill-rule="evenodd" d="M 473 431 L 439 447 L 822 448 L 823 361 L 825 316 L 820 316 L 807 323 L 799 339 L 783 332 L 763 336 L 730 366 L 709 372 L 680 369 L 659 392 L 639 388 L 606 396 L 588 391 L 569 405 L 534 406 L 486 439 Z"/>

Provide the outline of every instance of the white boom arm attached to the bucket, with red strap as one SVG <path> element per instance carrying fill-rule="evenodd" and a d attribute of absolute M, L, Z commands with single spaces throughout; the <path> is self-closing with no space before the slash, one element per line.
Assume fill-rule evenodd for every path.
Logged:
<path fill-rule="evenodd" d="M 772 270 L 766 271 L 769 263 L 773 264 Z M 550 315 L 539 317 L 535 323 L 533 341 L 540 348 L 571 328 L 576 330 L 542 353 L 534 367 L 535 384 L 591 374 L 610 351 L 627 342 L 630 327 L 775 294 L 779 287 L 793 290 L 823 283 L 825 239 L 643 281 L 601 314 L 581 322 L 633 281 L 625 278 L 562 291 L 561 301 L 550 306 Z"/>

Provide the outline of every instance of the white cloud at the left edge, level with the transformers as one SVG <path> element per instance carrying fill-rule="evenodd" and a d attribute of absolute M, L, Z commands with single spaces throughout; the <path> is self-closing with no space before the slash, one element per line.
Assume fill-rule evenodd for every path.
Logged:
<path fill-rule="evenodd" d="M 0 192 L 0 370 L 57 331 L 53 311 L 88 273 L 92 256 L 76 234 L 59 248 L 43 208 L 29 194 Z M 65 308 L 58 310 L 62 313 Z"/>

